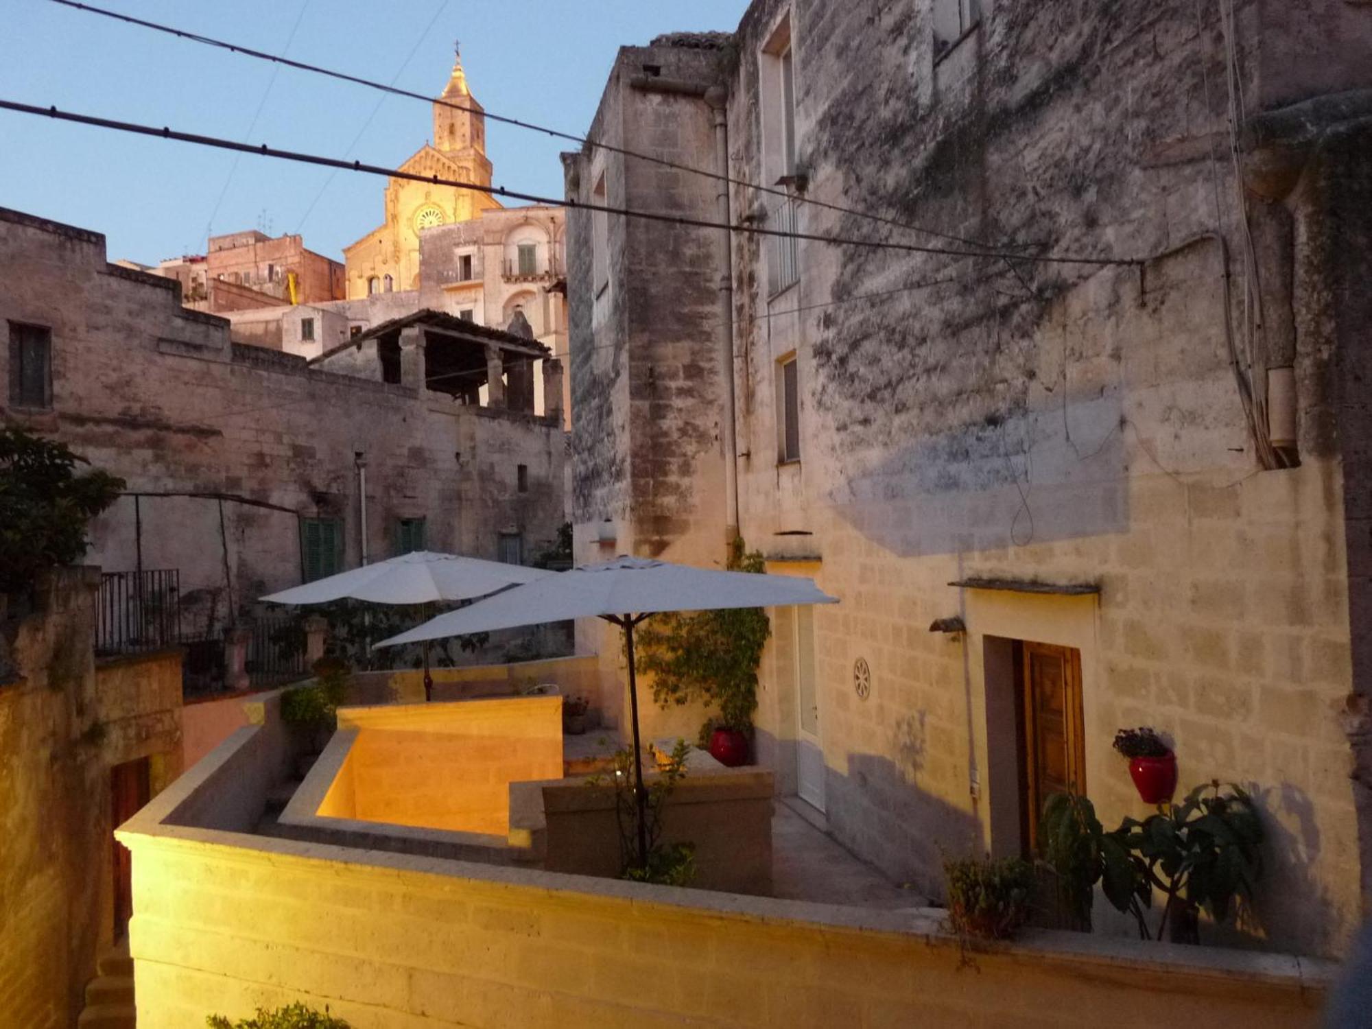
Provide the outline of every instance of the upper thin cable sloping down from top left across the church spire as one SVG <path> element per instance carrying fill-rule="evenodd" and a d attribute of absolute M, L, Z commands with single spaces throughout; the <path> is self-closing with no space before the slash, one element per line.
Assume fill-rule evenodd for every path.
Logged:
<path fill-rule="evenodd" d="M 910 224 L 910 222 L 899 221 L 896 218 L 888 218 L 888 217 L 881 215 L 881 214 L 871 214 L 868 211 L 856 210 L 853 207 L 844 207 L 842 204 L 829 203 L 827 200 L 816 200 L 816 199 L 809 198 L 809 196 L 790 193 L 786 189 L 778 189 L 775 187 L 761 185 L 760 182 L 750 182 L 750 181 L 744 180 L 744 178 L 734 178 L 733 176 L 720 174 L 719 172 L 711 172 L 709 169 L 696 167 L 693 165 L 683 165 L 681 162 L 670 161 L 667 158 L 660 158 L 660 156 L 656 156 L 653 154 L 643 154 L 643 152 L 639 152 L 639 151 L 628 150 L 626 147 L 616 147 L 616 145 L 609 144 L 609 143 L 601 143 L 600 140 L 593 140 L 593 139 L 590 139 L 587 136 L 578 136 L 576 133 L 563 132 L 560 129 L 552 129 L 552 128 L 547 128 L 546 125 L 535 125 L 532 122 L 527 122 L 527 121 L 523 121 L 520 118 L 510 118 L 508 115 L 494 114 L 494 113 L 487 111 L 484 108 L 472 107 L 471 104 L 460 104 L 460 103 L 453 103 L 453 102 L 445 100 L 445 99 L 435 99 L 435 97 L 431 97 L 431 96 L 424 96 L 423 93 L 416 93 L 416 92 L 409 91 L 409 89 L 399 89 L 399 88 L 395 86 L 394 82 L 391 82 L 390 85 L 387 85 L 384 82 L 376 82 L 376 81 L 369 80 L 369 78 L 362 78 L 361 75 L 351 75 L 351 74 L 347 74 L 346 71 L 336 71 L 333 69 L 321 67 L 318 64 L 307 64 L 307 63 L 305 63 L 302 60 L 289 60 L 284 55 L 283 56 L 277 56 L 274 54 L 266 54 L 263 51 L 252 49 L 250 47 L 241 47 L 241 45 L 236 44 L 236 43 L 228 43 L 225 40 L 217 40 L 217 38 L 214 38 L 211 36 L 202 36 L 200 33 L 188 32 L 185 29 L 177 29 L 174 26 L 163 25 L 161 22 L 151 22 L 151 21 L 147 21 L 147 19 L 143 19 L 143 18 L 133 18 L 132 15 L 121 14 L 118 11 L 108 11 L 108 10 L 102 8 L 102 7 L 92 7 L 91 4 L 82 4 L 82 3 L 78 3 L 77 0 L 52 0 L 52 3 L 60 4 L 63 7 L 71 7 L 71 8 L 78 10 L 78 11 L 85 11 L 88 14 L 96 14 L 96 15 L 100 15 L 100 16 L 104 16 L 104 18 L 114 18 L 115 21 L 121 21 L 121 22 L 125 22 L 128 25 L 137 25 L 137 26 L 144 27 L 144 29 L 151 29 L 152 32 L 161 32 L 161 33 L 166 33 L 169 36 L 176 36 L 177 38 L 181 38 L 181 40 L 189 40 L 191 43 L 200 43 L 200 44 L 207 45 L 207 47 L 217 47 L 220 49 L 226 49 L 230 54 L 240 54 L 243 56 L 254 58 L 257 60 L 269 60 L 269 62 L 273 62 L 276 64 L 284 64 L 287 67 L 296 69 L 299 71 L 309 71 L 309 73 L 313 73 L 313 74 L 317 74 L 317 75 L 327 75 L 329 78 L 335 78 L 335 80 L 339 80 L 342 82 L 353 82 L 354 85 L 366 86 L 368 89 L 380 89 L 381 92 L 392 93 L 395 96 L 403 96 L 403 97 L 407 97 L 407 99 L 412 99 L 412 100 L 421 100 L 421 102 L 424 102 L 427 104 L 440 104 L 443 107 L 449 107 L 449 108 L 453 108 L 456 111 L 465 111 L 468 114 L 480 114 L 482 117 L 490 118 L 494 122 L 501 122 L 502 125 L 510 125 L 510 126 L 517 128 L 517 129 L 527 129 L 530 132 L 538 132 L 538 133 L 550 136 L 553 139 L 567 140 L 568 143 L 576 143 L 576 144 L 583 145 L 583 147 L 593 147 L 595 150 L 604 150 L 604 151 L 608 151 L 611 154 L 619 154 L 622 156 L 635 158 L 638 161 L 646 161 L 646 162 L 653 163 L 653 165 L 660 165 L 661 167 L 670 167 L 670 169 L 674 169 L 674 170 L 678 170 L 678 172 L 686 172 L 686 173 L 690 173 L 690 174 L 694 174 L 694 176 L 704 176 L 705 178 L 712 178 L 712 180 L 715 180 L 718 182 L 724 182 L 726 185 L 737 185 L 737 187 L 742 187 L 745 189 L 755 189 L 755 191 L 757 191 L 760 193 L 767 193 L 770 196 L 779 196 L 782 199 L 797 202 L 797 203 L 809 204 L 812 207 L 822 207 L 825 210 L 836 211 L 838 214 L 851 214 L 851 215 L 858 217 L 858 218 L 867 218 L 870 221 L 875 221 L 875 222 L 879 222 L 882 225 L 889 225 L 892 228 L 906 229 L 906 230 L 910 230 L 910 232 L 919 232 L 919 233 L 923 233 L 926 236 L 934 236 L 934 237 L 945 239 L 945 240 L 949 240 L 949 241 L 954 241 L 954 243 L 966 243 L 969 246 L 984 246 L 978 240 L 969 239 L 966 236 L 956 236 L 956 235 L 952 235 L 952 233 L 948 233 L 948 232 L 940 232 L 938 229 L 930 229 L 930 228 L 927 228 L 925 225 L 914 225 L 914 224 Z M 1078 263 L 1087 263 L 1087 262 L 1078 262 Z"/>

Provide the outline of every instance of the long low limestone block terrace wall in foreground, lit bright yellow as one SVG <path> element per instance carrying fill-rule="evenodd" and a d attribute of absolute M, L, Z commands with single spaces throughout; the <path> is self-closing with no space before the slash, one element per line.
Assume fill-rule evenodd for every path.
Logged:
<path fill-rule="evenodd" d="M 302 1000 L 357 1029 L 940 1026 L 1109 1021 L 1314 1026 L 1331 966 L 1081 934 L 967 948 L 878 912 L 199 829 L 269 757 L 241 731 L 121 831 L 133 851 L 141 1029 Z M 232 753 L 230 753 L 232 752 Z M 247 764 L 239 760 L 246 756 Z M 261 797 L 259 797 L 261 801 Z"/>

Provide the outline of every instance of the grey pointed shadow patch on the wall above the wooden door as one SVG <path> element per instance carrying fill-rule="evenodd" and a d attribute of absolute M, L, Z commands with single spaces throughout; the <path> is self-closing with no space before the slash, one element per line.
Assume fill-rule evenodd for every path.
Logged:
<path fill-rule="evenodd" d="M 886 454 L 830 499 L 844 521 L 900 557 L 1122 532 L 1122 417 L 1118 391 L 1066 413 L 991 417 Z"/>

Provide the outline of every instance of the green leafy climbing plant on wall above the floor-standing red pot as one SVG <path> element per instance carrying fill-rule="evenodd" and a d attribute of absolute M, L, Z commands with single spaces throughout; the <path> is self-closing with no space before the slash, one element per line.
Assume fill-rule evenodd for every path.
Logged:
<path fill-rule="evenodd" d="M 734 542 L 729 567 L 761 572 L 763 556 Z M 718 724 L 748 731 L 757 709 L 757 667 L 771 623 L 761 608 L 654 615 L 635 635 L 639 675 L 653 681 L 661 707 L 701 701 L 718 709 Z"/>

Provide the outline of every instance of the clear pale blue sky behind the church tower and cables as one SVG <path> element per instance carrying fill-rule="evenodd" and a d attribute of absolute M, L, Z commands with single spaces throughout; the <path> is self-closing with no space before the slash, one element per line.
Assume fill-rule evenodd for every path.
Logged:
<path fill-rule="evenodd" d="M 432 108 L 418 100 L 383 99 L 52 0 L 3 1 L 0 97 L 7 100 L 387 167 L 432 132 Z M 620 45 L 664 32 L 733 30 L 746 7 L 746 0 L 91 3 L 394 80 L 425 96 L 447 84 L 460 40 L 472 93 L 488 113 L 576 134 L 590 128 Z M 487 122 L 497 185 L 561 196 L 558 152 L 568 148 L 565 140 Z M 0 207 L 103 232 L 111 261 L 151 265 L 200 254 L 211 232 L 243 229 L 299 232 L 309 248 L 342 261 L 344 246 L 381 224 L 384 185 L 375 176 L 0 111 Z"/>

